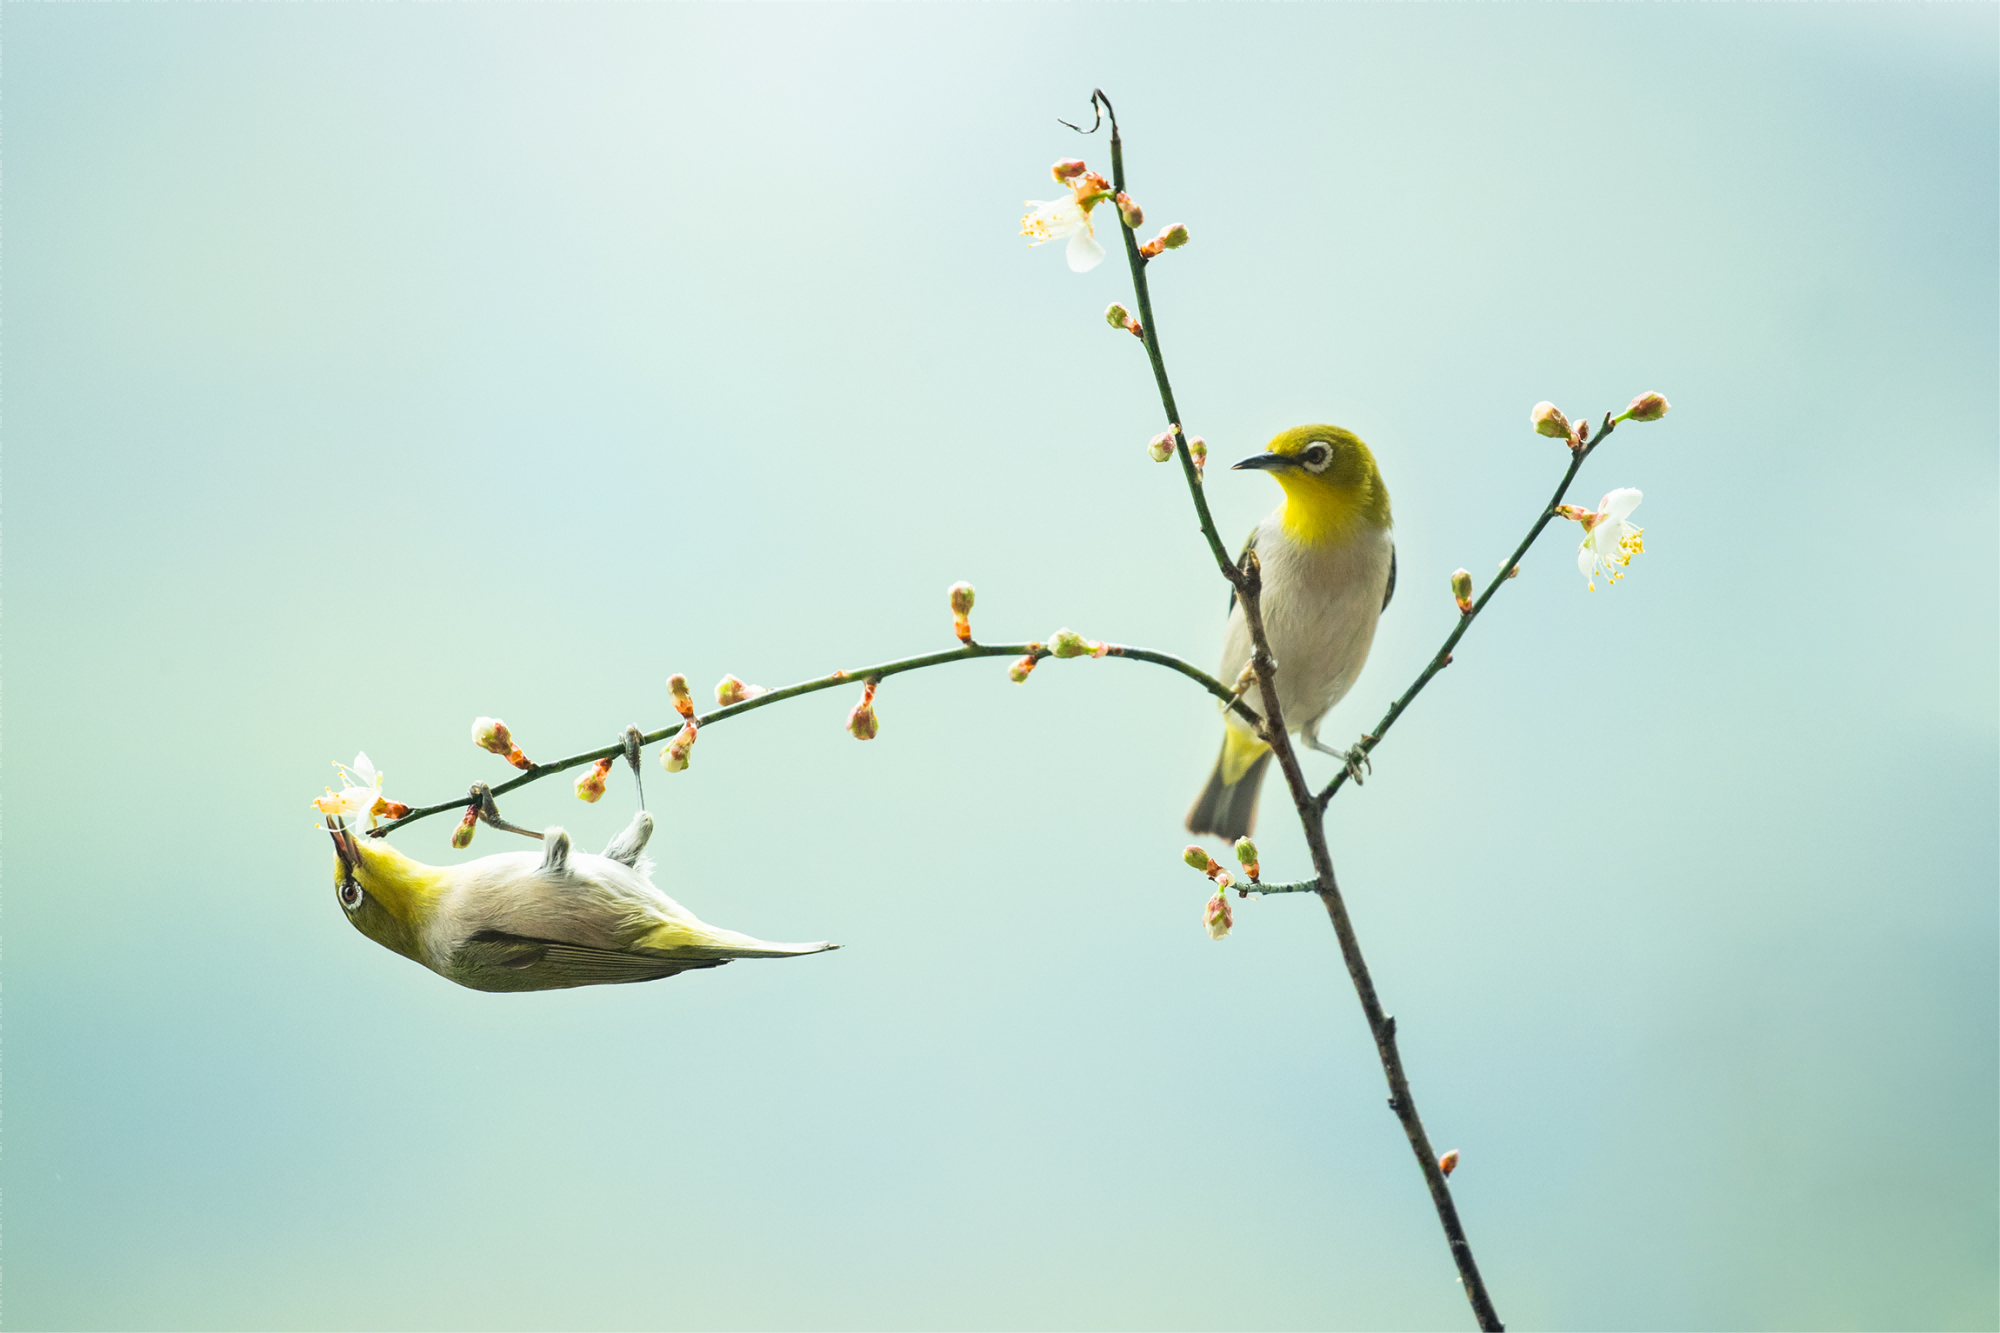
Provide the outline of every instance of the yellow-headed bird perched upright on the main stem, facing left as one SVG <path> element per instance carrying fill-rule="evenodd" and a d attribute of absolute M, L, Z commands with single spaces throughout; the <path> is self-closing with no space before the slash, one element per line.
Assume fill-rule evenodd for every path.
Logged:
<path fill-rule="evenodd" d="M 1260 606 L 1278 662 L 1284 727 L 1306 747 L 1354 767 L 1358 751 L 1320 745 L 1320 723 L 1362 673 L 1376 618 L 1396 592 L 1388 488 L 1368 446 L 1340 426 L 1296 426 L 1236 466 L 1270 472 L 1284 486 L 1284 504 L 1244 544 L 1264 572 Z M 1236 681 L 1248 662 L 1250 624 L 1230 592 L 1220 679 Z M 1264 711 L 1256 685 L 1244 703 Z M 1224 719 L 1222 755 L 1188 811 L 1188 833 L 1234 841 L 1256 825 L 1270 747 L 1238 715 Z"/>

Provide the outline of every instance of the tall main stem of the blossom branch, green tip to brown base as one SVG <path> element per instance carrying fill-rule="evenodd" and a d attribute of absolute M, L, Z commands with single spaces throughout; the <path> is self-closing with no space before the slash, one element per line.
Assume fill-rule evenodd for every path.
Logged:
<path fill-rule="evenodd" d="M 1102 90 L 1094 92 L 1092 100 L 1102 100 L 1104 110 L 1110 116 L 1112 188 L 1124 192 L 1124 142 L 1118 136 L 1118 116 L 1112 112 L 1110 98 L 1106 98 Z M 1270 745 L 1272 755 L 1278 759 L 1278 769 L 1284 773 L 1284 785 L 1292 793 L 1292 807 L 1298 811 L 1298 823 L 1306 833 L 1306 849 L 1312 853 L 1312 871 L 1318 881 L 1320 903 L 1326 905 L 1326 917 L 1334 925 L 1334 937 L 1340 941 L 1340 959 L 1346 963 L 1348 979 L 1354 983 L 1354 993 L 1362 1003 L 1362 1015 L 1368 1019 L 1368 1031 L 1374 1037 L 1376 1055 L 1382 1061 L 1382 1077 L 1388 1079 L 1388 1105 L 1402 1123 L 1404 1135 L 1410 1139 L 1410 1151 L 1416 1153 L 1418 1169 L 1424 1173 L 1424 1185 L 1430 1189 L 1432 1207 L 1438 1211 L 1438 1225 L 1444 1227 L 1444 1239 L 1452 1249 L 1452 1261 L 1458 1265 L 1458 1277 L 1464 1283 L 1466 1299 L 1472 1303 L 1472 1313 L 1478 1319 L 1482 1333 L 1502 1333 L 1500 1315 L 1494 1311 L 1492 1297 L 1486 1293 L 1486 1281 L 1480 1277 L 1478 1263 L 1472 1259 L 1472 1243 L 1466 1239 L 1466 1231 L 1458 1221 L 1458 1205 L 1452 1201 L 1452 1191 L 1444 1181 L 1444 1171 L 1438 1167 L 1438 1155 L 1430 1145 L 1430 1135 L 1424 1133 L 1424 1121 L 1416 1113 L 1416 1099 L 1410 1095 L 1410 1081 L 1402 1071 L 1402 1053 L 1396 1049 L 1396 1019 L 1382 1011 L 1382 1001 L 1374 989 L 1374 977 L 1368 973 L 1368 961 L 1362 957 L 1360 939 L 1354 935 L 1354 921 L 1348 917 L 1346 901 L 1340 897 L 1340 883 L 1334 879 L 1334 857 L 1326 847 L 1326 807 L 1318 797 L 1314 797 L 1312 787 L 1306 785 L 1306 773 L 1300 767 L 1298 753 L 1292 749 L 1292 739 L 1284 729 L 1284 717 L 1278 709 L 1278 664 L 1272 660 L 1270 638 L 1264 632 L 1264 580 L 1258 570 L 1256 552 L 1246 552 L 1244 564 L 1238 568 L 1230 562 L 1228 550 L 1216 534 L 1216 522 L 1208 512 L 1208 496 L 1202 494 L 1202 476 L 1194 468 L 1186 432 L 1180 428 L 1180 408 L 1174 402 L 1174 386 L 1166 376 L 1166 358 L 1160 354 L 1160 326 L 1154 320 L 1152 292 L 1146 286 L 1146 256 L 1138 252 L 1138 236 L 1124 222 L 1122 212 L 1118 218 L 1118 230 L 1124 236 L 1126 264 L 1132 268 L 1132 294 L 1138 302 L 1140 328 L 1146 340 L 1146 358 L 1152 362 L 1152 378 L 1160 388 L 1160 406 L 1166 410 L 1168 424 L 1174 430 L 1174 450 L 1180 454 L 1180 472 L 1188 482 L 1188 496 L 1194 500 L 1194 514 L 1202 524 L 1202 536 L 1208 540 L 1208 550 L 1214 554 L 1216 566 L 1236 588 L 1236 594 L 1244 604 L 1244 620 L 1250 628 L 1252 644 L 1250 664 L 1256 671 L 1258 695 L 1264 711 L 1264 725 L 1260 727 L 1260 733 L 1264 743 Z M 1488 588 L 1488 596 L 1492 596 L 1492 588 Z"/>

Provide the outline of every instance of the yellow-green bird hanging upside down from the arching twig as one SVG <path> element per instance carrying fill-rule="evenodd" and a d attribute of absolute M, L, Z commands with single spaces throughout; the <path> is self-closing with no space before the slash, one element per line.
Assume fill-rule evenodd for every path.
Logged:
<path fill-rule="evenodd" d="M 694 919 L 652 887 L 640 811 L 602 857 L 548 829 L 542 851 L 422 865 L 330 821 L 334 897 L 354 929 L 474 991 L 558 991 L 656 981 L 730 959 L 788 959 L 840 945 L 774 945 Z"/>

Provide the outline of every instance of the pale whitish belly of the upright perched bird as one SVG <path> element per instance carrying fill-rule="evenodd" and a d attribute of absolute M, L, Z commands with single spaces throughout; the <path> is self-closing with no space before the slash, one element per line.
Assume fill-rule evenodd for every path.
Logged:
<path fill-rule="evenodd" d="M 1278 658 L 1278 709 L 1286 731 L 1318 723 L 1362 673 L 1388 588 L 1390 550 L 1386 528 L 1328 546 L 1294 542 L 1276 518 L 1258 528 L 1260 604 L 1270 652 Z M 1250 626 L 1238 602 L 1222 648 L 1222 681 L 1234 683 L 1248 660 Z M 1264 711 L 1256 687 L 1244 703 Z M 1230 721 L 1240 725 L 1236 717 Z"/>

